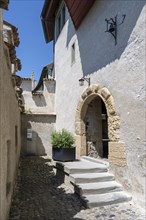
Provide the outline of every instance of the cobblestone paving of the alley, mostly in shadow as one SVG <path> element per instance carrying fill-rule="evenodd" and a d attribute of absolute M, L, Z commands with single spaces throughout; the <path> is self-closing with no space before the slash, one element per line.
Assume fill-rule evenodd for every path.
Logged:
<path fill-rule="evenodd" d="M 22 157 L 9 220 L 145 220 L 131 202 L 85 209 L 45 157 Z"/>

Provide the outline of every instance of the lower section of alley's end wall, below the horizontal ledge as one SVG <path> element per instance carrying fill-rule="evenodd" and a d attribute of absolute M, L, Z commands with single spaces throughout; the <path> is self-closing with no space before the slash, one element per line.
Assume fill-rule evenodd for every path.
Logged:
<path fill-rule="evenodd" d="M 56 116 L 43 114 L 22 115 L 22 155 L 52 155 L 50 141 Z"/>

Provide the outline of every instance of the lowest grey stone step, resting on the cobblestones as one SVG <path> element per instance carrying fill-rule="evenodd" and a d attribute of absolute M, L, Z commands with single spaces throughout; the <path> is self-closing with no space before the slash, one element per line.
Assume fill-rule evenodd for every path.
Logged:
<path fill-rule="evenodd" d="M 110 192 L 104 194 L 86 195 L 81 197 L 83 204 L 87 208 L 111 205 L 116 203 L 128 202 L 132 197 L 126 192 Z"/>

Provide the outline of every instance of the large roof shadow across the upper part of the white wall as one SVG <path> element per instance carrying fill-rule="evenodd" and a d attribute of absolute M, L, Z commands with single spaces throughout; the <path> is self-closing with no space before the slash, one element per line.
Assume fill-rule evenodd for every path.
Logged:
<path fill-rule="evenodd" d="M 107 1 L 95 1 L 76 31 L 84 76 L 106 67 L 121 57 L 144 5 L 145 1 L 110 1 L 108 3 Z M 117 45 L 115 45 L 113 36 L 105 32 L 105 19 L 114 18 L 117 15 L 119 24 L 123 14 L 126 15 L 126 18 L 124 23 L 118 26 Z M 67 47 L 74 35 L 71 23 L 69 19 Z"/>

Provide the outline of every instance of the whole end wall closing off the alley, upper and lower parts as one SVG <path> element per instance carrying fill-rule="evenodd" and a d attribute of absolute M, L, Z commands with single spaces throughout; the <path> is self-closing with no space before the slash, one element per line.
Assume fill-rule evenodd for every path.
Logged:
<path fill-rule="evenodd" d="M 54 79 L 43 80 L 43 90 L 32 94 L 32 79 L 23 79 L 25 114 L 22 115 L 22 154 L 52 155 L 50 135 L 55 129 Z M 30 134 L 31 133 L 31 134 Z M 28 137 L 31 135 L 32 137 Z"/>

